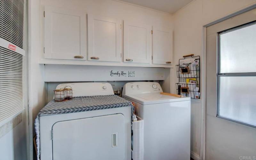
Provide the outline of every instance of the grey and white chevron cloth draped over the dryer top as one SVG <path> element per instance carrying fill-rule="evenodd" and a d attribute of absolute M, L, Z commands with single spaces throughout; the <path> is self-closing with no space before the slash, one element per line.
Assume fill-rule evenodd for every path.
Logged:
<path fill-rule="evenodd" d="M 133 115 L 134 108 L 132 102 L 117 95 L 73 97 L 72 100 L 63 102 L 55 102 L 54 99 L 51 100 L 39 111 L 35 120 L 37 160 L 40 160 L 40 116 L 86 112 L 119 107 L 131 107 L 131 116 Z"/>

